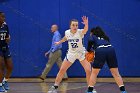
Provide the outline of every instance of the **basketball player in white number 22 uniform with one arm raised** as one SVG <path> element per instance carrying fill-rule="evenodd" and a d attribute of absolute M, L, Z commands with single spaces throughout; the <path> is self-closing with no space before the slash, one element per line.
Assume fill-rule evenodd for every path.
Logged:
<path fill-rule="evenodd" d="M 78 29 L 78 20 L 73 19 L 70 21 L 70 29 L 65 31 L 65 36 L 62 38 L 62 40 L 55 43 L 61 44 L 65 41 L 68 41 L 69 49 L 57 74 L 55 84 L 49 89 L 48 93 L 57 93 L 57 88 L 59 86 L 59 83 L 62 81 L 64 74 L 76 59 L 80 61 L 81 65 L 83 66 L 86 72 L 87 83 L 89 81 L 89 77 L 91 74 L 91 65 L 85 59 L 86 51 L 82 44 L 82 39 L 88 31 L 88 17 L 83 16 L 82 20 L 82 23 L 85 25 L 84 29 Z"/>

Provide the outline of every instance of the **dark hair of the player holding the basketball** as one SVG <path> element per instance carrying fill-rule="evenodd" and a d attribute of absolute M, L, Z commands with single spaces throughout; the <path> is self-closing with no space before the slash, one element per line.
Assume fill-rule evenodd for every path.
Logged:
<path fill-rule="evenodd" d="M 96 37 L 104 38 L 105 40 L 110 41 L 109 37 L 104 33 L 102 28 L 99 26 L 97 26 L 96 28 L 92 28 L 90 32 Z"/>

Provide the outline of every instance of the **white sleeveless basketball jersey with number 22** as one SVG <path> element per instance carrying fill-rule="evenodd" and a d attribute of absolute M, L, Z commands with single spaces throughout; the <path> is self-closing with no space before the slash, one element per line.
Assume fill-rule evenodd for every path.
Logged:
<path fill-rule="evenodd" d="M 82 41 L 84 37 L 82 30 L 83 29 L 78 29 L 75 34 L 71 33 L 70 29 L 65 31 L 65 37 L 67 38 L 69 45 L 68 52 L 80 52 L 85 50 Z"/>

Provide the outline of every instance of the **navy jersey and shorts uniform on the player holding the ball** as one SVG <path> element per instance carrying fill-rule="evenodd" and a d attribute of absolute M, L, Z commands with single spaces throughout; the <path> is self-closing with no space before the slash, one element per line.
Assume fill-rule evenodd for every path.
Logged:
<path fill-rule="evenodd" d="M 90 36 L 87 51 L 89 52 L 92 49 L 95 50 L 95 58 L 92 63 L 93 68 L 101 69 L 105 62 L 109 68 L 118 67 L 115 50 L 108 40 L 95 35 Z"/>

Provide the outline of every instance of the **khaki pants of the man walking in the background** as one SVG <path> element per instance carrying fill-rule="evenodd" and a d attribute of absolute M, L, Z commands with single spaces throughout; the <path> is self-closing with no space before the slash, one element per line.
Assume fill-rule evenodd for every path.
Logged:
<path fill-rule="evenodd" d="M 46 64 L 46 67 L 41 75 L 42 78 L 44 78 L 44 79 L 46 78 L 47 74 L 51 70 L 54 63 L 56 63 L 59 68 L 61 67 L 61 64 L 62 64 L 61 56 L 62 56 L 61 50 L 57 50 L 54 53 L 50 52 L 48 63 Z M 68 78 L 67 73 L 64 74 L 64 78 Z"/>

